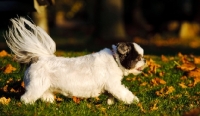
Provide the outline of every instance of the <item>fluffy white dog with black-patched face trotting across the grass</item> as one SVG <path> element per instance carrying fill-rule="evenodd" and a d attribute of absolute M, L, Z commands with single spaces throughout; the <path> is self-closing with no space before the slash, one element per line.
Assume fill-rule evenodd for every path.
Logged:
<path fill-rule="evenodd" d="M 56 45 L 44 30 L 22 17 L 11 22 L 6 42 L 18 62 L 31 62 L 24 75 L 22 102 L 34 103 L 39 98 L 54 102 L 54 92 L 90 98 L 104 91 L 126 104 L 139 102 L 121 83 L 124 75 L 137 75 L 144 68 L 143 49 L 138 44 L 118 43 L 81 57 L 56 57 Z M 108 104 L 112 103 L 113 99 L 108 99 Z"/>

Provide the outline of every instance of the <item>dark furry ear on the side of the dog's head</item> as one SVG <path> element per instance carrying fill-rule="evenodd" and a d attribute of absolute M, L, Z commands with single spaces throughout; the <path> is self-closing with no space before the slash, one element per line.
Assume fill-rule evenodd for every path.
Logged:
<path fill-rule="evenodd" d="M 120 54 L 126 54 L 127 52 L 129 52 L 131 49 L 131 47 L 127 44 L 127 43 L 118 43 L 117 44 L 117 51 L 120 53 Z"/>

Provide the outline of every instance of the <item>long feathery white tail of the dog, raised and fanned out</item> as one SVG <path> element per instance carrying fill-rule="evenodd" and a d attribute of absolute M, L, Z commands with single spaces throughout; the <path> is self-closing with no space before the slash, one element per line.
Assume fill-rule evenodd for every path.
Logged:
<path fill-rule="evenodd" d="M 55 42 L 42 28 L 23 17 L 11 19 L 11 22 L 5 39 L 18 62 L 29 63 L 39 56 L 54 55 Z"/>

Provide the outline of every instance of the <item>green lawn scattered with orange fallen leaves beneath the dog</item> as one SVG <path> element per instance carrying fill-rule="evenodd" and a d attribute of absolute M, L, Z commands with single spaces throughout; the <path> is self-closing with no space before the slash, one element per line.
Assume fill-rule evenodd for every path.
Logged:
<path fill-rule="evenodd" d="M 83 52 L 57 52 L 75 57 Z M 200 57 L 194 55 L 145 56 L 147 68 L 140 75 L 126 76 L 122 83 L 138 98 L 139 104 L 125 105 L 116 100 L 107 105 L 102 94 L 98 98 L 66 98 L 57 94 L 56 103 L 38 100 L 34 105 L 20 102 L 24 93 L 23 74 L 28 65 L 15 62 L 10 54 L 0 51 L 0 115 L 8 116 L 179 116 L 200 113 Z M 81 76 L 81 75 L 80 75 Z"/>

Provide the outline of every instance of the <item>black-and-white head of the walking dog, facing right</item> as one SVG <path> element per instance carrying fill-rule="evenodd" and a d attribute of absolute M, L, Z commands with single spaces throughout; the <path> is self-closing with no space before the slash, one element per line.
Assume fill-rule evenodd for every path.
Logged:
<path fill-rule="evenodd" d="M 116 57 L 120 65 L 128 71 L 137 75 L 142 72 L 146 61 L 143 58 L 144 50 L 136 43 L 118 43 L 113 46 Z"/>

